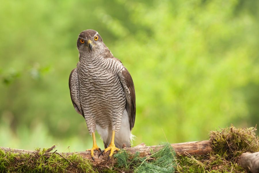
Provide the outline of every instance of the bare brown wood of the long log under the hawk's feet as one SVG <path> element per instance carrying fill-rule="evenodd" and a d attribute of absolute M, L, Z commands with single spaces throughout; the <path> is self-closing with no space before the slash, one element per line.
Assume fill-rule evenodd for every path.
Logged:
<path fill-rule="evenodd" d="M 212 148 L 210 147 L 208 140 L 195 141 L 195 142 L 183 142 L 183 143 L 171 144 L 171 146 L 179 154 L 206 155 L 207 153 L 210 153 L 210 151 L 212 151 Z M 144 157 L 144 156 L 150 155 L 151 149 L 153 149 L 154 151 L 157 151 L 159 150 L 159 148 L 161 148 L 161 146 L 146 146 L 144 143 L 142 143 L 132 148 L 123 148 L 123 149 L 126 149 L 130 153 L 136 153 L 138 151 L 140 152 L 140 156 Z M 5 148 L 5 147 L 0 147 L 0 149 L 2 149 L 3 151 L 12 151 L 14 153 L 34 153 L 35 152 L 35 151 L 12 149 L 12 148 Z M 92 160 L 90 151 L 73 152 L 73 153 L 80 154 L 83 158 Z M 59 154 L 72 155 L 73 153 L 71 152 L 71 153 L 59 153 Z M 101 155 L 100 158 L 98 158 L 98 153 L 99 153 L 98 151 L 94 151 L 94 159 L 96 162 L 106 160 L 108 158 L 110 151 L 108 151 L 104 155 L 104 157 Z"/>

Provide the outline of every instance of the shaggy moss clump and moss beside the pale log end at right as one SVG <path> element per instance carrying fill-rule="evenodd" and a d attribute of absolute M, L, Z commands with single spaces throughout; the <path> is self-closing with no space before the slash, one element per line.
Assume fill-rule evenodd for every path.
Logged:
<path fill-rule="evenodd" d="M 177 156 L 177 172 L 246 172 L 235 163 L 243 152 L 259 151 L 255 127 L 236 129 L 233 125 L 210 132 L 213 152 L 208 155 Z"/>

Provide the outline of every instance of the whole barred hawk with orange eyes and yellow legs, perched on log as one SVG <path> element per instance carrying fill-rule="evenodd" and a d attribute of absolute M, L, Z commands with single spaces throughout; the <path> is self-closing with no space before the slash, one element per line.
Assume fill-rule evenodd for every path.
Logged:
<path fill-rule="evenodd" d="M 114 151 L 126 144 L 130 147 L 136 116 L 136 97 L 132 77 L 121 61 L 104 44 L 97 31 L 82 31 L 77 39 L 79 62 L 69 76 L 69 89 L 75 110 L 86 121 L 93 138 L 91 151 L 101 151 L 95 131 L 104 143 L 100 154 Z M 99 156 L 100 156 L 99 154 Z"/>

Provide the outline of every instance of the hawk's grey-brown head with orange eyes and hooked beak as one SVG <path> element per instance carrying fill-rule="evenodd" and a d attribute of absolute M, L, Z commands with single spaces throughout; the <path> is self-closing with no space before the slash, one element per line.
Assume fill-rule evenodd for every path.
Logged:
<path fill-rule="evenodd" d="M 77 39 L 77 50 L 80 54 L 100 52 L 104 46 L 102 37 L 92 29 L 82 31 Z"/>

